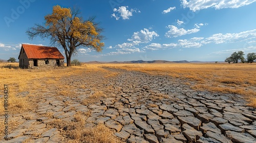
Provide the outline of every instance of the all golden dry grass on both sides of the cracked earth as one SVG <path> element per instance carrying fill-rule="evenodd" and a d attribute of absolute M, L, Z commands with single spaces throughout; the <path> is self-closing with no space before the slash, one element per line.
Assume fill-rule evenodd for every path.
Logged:
<path fill-rule="evenodd" d="M 56 86 L 58 94 L 70 96 L 70 86 L 67 83 L 57 84 L 61 78 L 71 75 L 79 76 L 81 73 L 101 72 L 105 78 L 116 76 L 118 73 L 112 73 L 101 67 L 108 66 L 126 70 L 137 70 L 153 75 L 165 75 L 173 78 L 179 78 L 183 81 L 181 84 L 189 85 L 195 90 L 208 90 L 212 92 L 241 94 L 247 101 L 248 106 L 256 107 L 256 64 L 226 64 L 226 63 L 173 63 L 173 64 L 82 64 L 81 66 L 65 67 L 59 69 L 20 69 L 18 63 L 0 63 L 0 95 L 4 94 L 4 84 L 8 85 L 9 92 L 9 112 L 22 113 L 34 111 L 38 92 L 38 87 L 47 90 L 47 83 Z M 56 74 L 58 73 L 58 74 Z M 42 82 L 43 81 L 43 82 Z M 86 87 L 81 87 L 86 88 Z M 19 92 L 29 91 L 26 97 L 17 97 Z M 102 91 L 96 91 L 94 97 L 89 97 L 85 104 L 96 102 L 97 99 L 104 98 L 106 94 Z M 73 94 L 72 94 L 73 95 Z M 74 95 L 73 95 L 74 96 Z M 4 111 L 4 99 L 1 98 L 0 113 Z M 119 142 L 113 136 L 113 132 L 104 125 L 96 126 L 95 129 L 82 129 L 81 124 L 84 120 L 79 113 L 75 116 L 77 123 L 72 126 L 78 126 L 69 133 L 73 134 L 72 142 L 79 142 L 87 139 L 91 142 L 105 142 L 105 139 L 112 142 Z M 86 115 L 83 115 L 86 116 Z M 52 124 L 56 125 L 58 122 Z M 15 129 L 15 122 L 11 123 L 10 130 Z M 63 123 L 62 123 L 63 124 Z M 80 125 L 80 126 L 79 126 Z M 0 123 L 0 129 L 3 127 Z M 0 132 L 2 134 L 2 131 Z M 84 138 L 86 136 L 87 138 Z M 96 137 L 97 136 L 97 137 Z M 90 141 L 89 141 L 90 142 Z"/>

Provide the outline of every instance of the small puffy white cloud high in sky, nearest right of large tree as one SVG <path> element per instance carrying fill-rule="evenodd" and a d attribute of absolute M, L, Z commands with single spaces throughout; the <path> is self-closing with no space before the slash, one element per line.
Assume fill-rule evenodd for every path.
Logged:
<path fill-rule="evenodd" d="M 120 17 L 122 17 L 123 20 L 130 19 L 131 16 L 133 16 L 133 12 L 140 13 L 138 9 L 131 9 L 130 11 L 127 9 L 128 6 L 122 6 L 118 9 L 114 8 L 114 13 L 111 14 L 111 17 L 115 17 L 116 20 L 118 20 Z"/>

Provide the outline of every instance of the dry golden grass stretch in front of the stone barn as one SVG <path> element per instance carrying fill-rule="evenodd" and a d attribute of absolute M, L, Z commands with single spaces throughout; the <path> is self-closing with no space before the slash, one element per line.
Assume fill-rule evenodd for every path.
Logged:
<path fill-rule="evenodd" d="M 110 71 L 100 68 L 99 65 L 83 64 L 82 66 L 65 67 L 57 69 L 20 69 L 18 63 L 0 63 L 0 94 L 4 94 L 4 85 L 8 85 L 8 111 L 9 115 L 23 113 L 27 111 L 35 111 L 36 103 L 41 100 L 41 94 L 51 91 L 52 96 L 68 96 L 73 97 L 74 87 L 70 87 L 68 83 L 59 84 L 60 79 L 65 77 L 78 77 L 86 73 L 103 73 L 106 77 L 111 74 Z M 80 85 L 81 86 L 81 85 Z M 83 89 L 86 87 L 83 87 Z M 26 96 L 17 96 L 22 92 Z M 92 98 L 105 97 L 101 91 L 96 91 Z M 4 105 L 1 98 L 0 105 Z M 4 113 L 4 106 L 0 106 L 0 115 Z M 52 117 L 53 113 L 45 114 Z M 30 116 L 25 116 L 29 119 Z M 9 131 L 17 127 L 15 121 L 9 121 Z M 79 121 L 80 123 L 80 121 Z M 56 126 L 62 126 L 62 123 L 56 121 Z M 4 129 L 4 122 L 0 120 L 0 128 Z M 99 132 L 100 133 L 100 132 Z M 3 130 L 0 131 L 3 134 Z M 79 140 L 79 139 L 78 139 Z M 80 142 L 80 141 L 77 141 Z"/>

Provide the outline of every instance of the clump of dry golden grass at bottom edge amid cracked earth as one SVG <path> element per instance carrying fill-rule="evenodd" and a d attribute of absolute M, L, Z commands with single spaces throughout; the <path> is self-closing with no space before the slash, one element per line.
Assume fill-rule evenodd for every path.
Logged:
<path fill-rule="evenodd" d="M 65 142 L 122 142 L 114 136 L 113 130 L 105 125 L 99 124 L 92 128 L 84 128 L 84 125 L 87 124 L 86 115 L 78 112 L 74 117 L 75 122 L 62 122 L 59 119 L 54 119 L 54 121 L 48 124 L 48 128 L 61 129 L 61 133 L 65 136 Z"/>

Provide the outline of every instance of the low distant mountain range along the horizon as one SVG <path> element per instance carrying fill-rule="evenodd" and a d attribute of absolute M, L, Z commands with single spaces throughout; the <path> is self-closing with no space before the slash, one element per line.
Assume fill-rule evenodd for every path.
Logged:
<path fill-rule="evenodd" d="M 207 61 L 207 63 L 213 63 L 214 61 Z M 154 61 L 143 61 L 143 60 L 138 60 L 138 61 L 113 61 L 113 62 L 99 62 L 99 61 L 90 61 L 86 63 L 206 63 L 205 61 L 165 61 L 165 60 L 154 60 Z"/>

